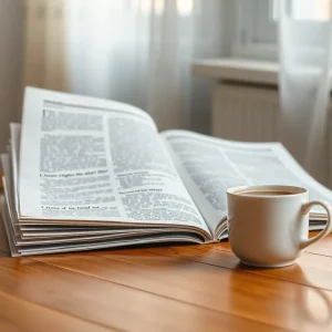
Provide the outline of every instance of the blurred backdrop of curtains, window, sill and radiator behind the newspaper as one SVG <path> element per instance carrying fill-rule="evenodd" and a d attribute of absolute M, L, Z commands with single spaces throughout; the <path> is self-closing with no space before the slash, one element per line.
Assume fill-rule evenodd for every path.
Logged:
<path fill-rule="evenodd" d="M 332 187 L 331 35 L 329 0 L 0 0 L 0 148 L 32 85 L 280 141 Z"/>

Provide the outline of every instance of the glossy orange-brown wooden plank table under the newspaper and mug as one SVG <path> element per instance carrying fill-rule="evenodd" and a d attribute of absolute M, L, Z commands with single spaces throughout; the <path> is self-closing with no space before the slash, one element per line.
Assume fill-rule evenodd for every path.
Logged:
<path fill-rule="evenodd" d="M 332 331 L 332 235 L 270 270 L 228 242 L 0 258 L 1 332 L 110 330 Z"/>

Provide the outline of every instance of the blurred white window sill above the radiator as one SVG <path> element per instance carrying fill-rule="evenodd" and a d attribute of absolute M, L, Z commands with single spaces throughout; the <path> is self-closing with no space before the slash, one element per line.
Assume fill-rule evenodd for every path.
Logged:
<path fill-rule="evenodd" d="M 193 63 L 196 76 L 257 84 L 278 85 L 279 64 L 263 60 L 207 59 Z"/>

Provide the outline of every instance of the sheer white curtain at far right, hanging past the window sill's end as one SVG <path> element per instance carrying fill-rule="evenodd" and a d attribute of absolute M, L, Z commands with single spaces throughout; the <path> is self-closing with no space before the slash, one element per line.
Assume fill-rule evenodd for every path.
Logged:
<path fill-rule="evenodd" d="M 325 183 L 331 1 L 281 0 L 279 28 L 281 141 L 317 179 Z"/>

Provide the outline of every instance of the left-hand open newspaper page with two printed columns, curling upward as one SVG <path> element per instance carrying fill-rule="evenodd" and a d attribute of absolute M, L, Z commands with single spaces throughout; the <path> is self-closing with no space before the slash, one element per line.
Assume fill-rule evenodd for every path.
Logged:
<path fill-rule="evenodd" d="M 208 228 L 153 120 L 117 102 L 27 87 L 21 219 Z"/>

